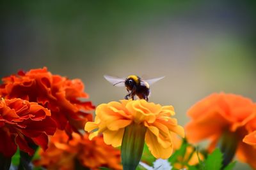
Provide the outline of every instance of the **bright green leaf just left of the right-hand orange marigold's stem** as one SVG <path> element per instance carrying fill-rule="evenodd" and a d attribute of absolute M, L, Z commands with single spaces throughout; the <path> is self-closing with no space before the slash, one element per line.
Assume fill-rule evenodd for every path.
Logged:
<path fill-rule="evenodd" d="M 205 160 L 205 169 L 207 170 L 219 170 L 221 169 L 222 162 L 222 153 L 220 152 L 219 148 L 216 148 L 214 152 L 208 155 L 207 159 Z"/>

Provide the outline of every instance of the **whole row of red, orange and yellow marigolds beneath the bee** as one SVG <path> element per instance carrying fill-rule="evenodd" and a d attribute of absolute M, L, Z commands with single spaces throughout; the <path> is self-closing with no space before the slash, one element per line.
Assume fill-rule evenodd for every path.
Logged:
<path fill-rule="evenodd" d="M 40 159 L 34 164 L 50 170 L 135 170 L 138 164 L 208 169 L 207 162 L 215 158 L 217 169 L 224 169 L 234 155 L 256 169 L 256 104 L 243 96 L 211 94 L 192 106 L 183 143 L 177 135 L 184 138 L 184 129 L 173 118 L 173 106 L 130 99 L 95 110 L 81 80 L 52 74 L 46 67 L 3 78 L 0 98 L 0 169 L 10 167 L 18 147 L 19 168 L 26 169 L 37 146 Z M 218 147 L 208 156 L 190 144 L 204 139 L 210 141 L 209 152 Z M 144 147 L 157 159 L 154 167 L 140 162 Z"/>

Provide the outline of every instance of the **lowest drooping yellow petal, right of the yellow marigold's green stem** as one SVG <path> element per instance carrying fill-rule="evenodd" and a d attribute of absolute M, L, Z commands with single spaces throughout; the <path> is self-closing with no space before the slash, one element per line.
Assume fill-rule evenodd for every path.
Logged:
<path fill-rule="evenodd" d="M 152 153 L 154 157 L 157 159 L 168 159 L 173 152 L 173 147 L 172 145 L 168 148 L 163 148 L 158 142 L 157 142 L 157 137 L 147 130 L 146 135 L 145 135 L 145 141 L 148 146 L 148 149 Z"/>

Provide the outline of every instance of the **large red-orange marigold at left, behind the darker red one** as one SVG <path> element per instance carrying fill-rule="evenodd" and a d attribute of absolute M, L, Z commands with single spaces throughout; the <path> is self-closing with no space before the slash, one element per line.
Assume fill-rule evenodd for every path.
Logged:
<path fill-rule="evenodd" d="M 94 110 L 94 106 L 90 101 L 81 100 L 88 98 L 83 90 L 81 80 L 69 80 L 51 74 L 44 67 L 26 73 L 19 71 L 18 74 L 3 78 L 0 96 L 5 99 L 19 97 L 41 104 L 51 110 L 58 129 L 70 132 L 83 129 L 85 122 L 92 121 L 92 114 L 86 111 Z"/>

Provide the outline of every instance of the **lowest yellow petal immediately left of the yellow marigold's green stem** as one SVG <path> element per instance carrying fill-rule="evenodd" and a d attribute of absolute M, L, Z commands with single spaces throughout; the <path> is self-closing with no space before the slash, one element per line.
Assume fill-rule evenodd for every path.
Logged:
<path fill-rule="evenodd" d="M 106 130 L 103 132 L 104 142 L 108 145 L 118 147 L 122 144 L 122 138 L 124 136 L 124 128 L 118 131 Z"/>

